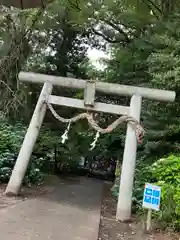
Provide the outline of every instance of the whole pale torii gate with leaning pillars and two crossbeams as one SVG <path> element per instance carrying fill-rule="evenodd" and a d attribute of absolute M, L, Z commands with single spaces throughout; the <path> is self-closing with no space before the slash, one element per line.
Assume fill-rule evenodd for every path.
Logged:
<path fill-rule="evenodd" d="M 50 75 L 21 72 L 19 80 L 24 83 L 44 84 L 39 96 L 34 114 L 25 135 L 19 156 L 12 171 L 11 178 L 6 188 L 7 195 L 17 195 L 19 193 L 23 178 L 25 176 L 28 163 L 35 145 L 39 130 L 47 110 L 46 102 L 55 105 L 69 106 L 73 108 L 87 109 L 97 112 L 106 112 L 111 114 L 128 114 L 140 120 L 142 98 L 157 101 L 175 100 L 175 92 L 111 84 L 104 82 L 89 82 L 81 79 L 55 77 Z M 53 86 L 62 86 L 75 89 L 85 89 L 85 98 L 83 100 L 53 96 Z M 118 96 L 130 96 L 130 106 L 119 106 L 114 104 L 105 104 L 94 102 L 95 91 Z M 125 221 L 131 217 L 132 191 L 134 170 L 136 163 L 137 139 L 135 131 L 130 124 L 127 126 L 123 164 L 121 171 L 120 189 L 117 204 L 117 220 Z"/>

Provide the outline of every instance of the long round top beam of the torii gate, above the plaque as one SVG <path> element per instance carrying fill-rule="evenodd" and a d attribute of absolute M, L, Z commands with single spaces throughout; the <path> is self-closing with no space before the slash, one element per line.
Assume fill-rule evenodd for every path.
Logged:
<path fill-rule="evenodd" d="M 21 82 L 29 82 L 29 83 L 39 83 L 43 84 L 46 81 L 51 82 L 55 86 L 61 86 L 66 88 L 74 88 L 74 89 L 85 89 L 86 80 L 69 78 L 69 77 L 57 77 L 52 75 L 44 75 L 39 73 L 32 72 L 20 72 L 19 80 Z M 129 96 L 140 95 L 142 98 L 147 98 L 150 100 L 157 101 L 165 101 L 165 102 L 173 102 L 176 97 L 176 93 L 174 91 L 153 89 L 153 88 L 143 88 L 143 87 L 135 87 L 130 85 L 120 85 L 114 83 L 106 83 L 106 82 L 96 82 L 95 90 L 97 92 L 103 92 L 109 95 L 117 95 L 117 96 Z"/>

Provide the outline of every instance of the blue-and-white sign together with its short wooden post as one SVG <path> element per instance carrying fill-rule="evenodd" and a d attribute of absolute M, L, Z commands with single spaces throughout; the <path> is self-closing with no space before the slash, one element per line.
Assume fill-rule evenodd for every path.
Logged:
<path fill-rule="evenodd" d="M 151 218 L 152 210 L 159 211 L 161 199 L 161 188 L 149 183 L 145 184 L 144 196 L 143 196 L 143 207 L 148 209 L 146 230 L 151 230 Z"/>

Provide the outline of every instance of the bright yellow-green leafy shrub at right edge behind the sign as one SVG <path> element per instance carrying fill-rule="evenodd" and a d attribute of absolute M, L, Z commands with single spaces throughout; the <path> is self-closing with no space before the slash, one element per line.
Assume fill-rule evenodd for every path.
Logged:
<path fill-rule="evenodd" d="M 180 156 L 170 155 L 151 168 L 156 184 L 161 186 L 161 209 L 155 214 L 162 227 L 180 228 Z"/>

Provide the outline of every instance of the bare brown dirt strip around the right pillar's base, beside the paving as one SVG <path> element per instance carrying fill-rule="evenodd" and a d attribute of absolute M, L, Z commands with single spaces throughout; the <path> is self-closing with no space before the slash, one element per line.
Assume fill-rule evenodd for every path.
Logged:
<path fill-rule="evenodd" d="M 116 221 L 116 201 L 113 199 L 110 183 L 104 185 L 104 197 L 101 207 L 101 222 L 98 240 L 179 240 L 180 235 L 153 233 L 145 234 L 142 223 L 131 224 Z"/>

